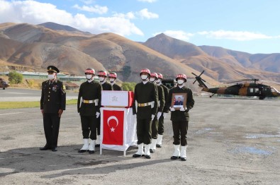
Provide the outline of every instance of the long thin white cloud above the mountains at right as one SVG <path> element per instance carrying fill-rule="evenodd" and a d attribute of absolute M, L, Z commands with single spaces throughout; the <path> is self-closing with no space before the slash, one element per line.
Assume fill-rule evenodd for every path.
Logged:
<path fill-rule="evenodd" d="M 271 39 L 273 37 L 267 36 L 256 32 L 246 32 L 246 31 L 203 31 L 198 32 L 199 35 L 206 35 L 206 37 L 214 39 L 227 39 L 227 40 L 257 40 L 257 39 Z"/>

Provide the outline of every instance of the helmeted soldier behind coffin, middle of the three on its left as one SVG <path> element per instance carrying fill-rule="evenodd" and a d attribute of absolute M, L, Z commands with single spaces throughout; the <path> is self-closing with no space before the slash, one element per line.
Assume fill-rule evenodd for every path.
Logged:
<path fill-rule="evenodd" d="M 113 90 L 113 87 L 110 83 L 106 82 L 106 78 L 107 78 L 107 72 L 106 71 L 99 71 L 98 73 L 99 76 L 99 82 L 102 86 L 102 90 Z M 96 136 L 96 147 L 100 146 L 100 124 L 101 124 L 101 120 L 99 117 L 99 124 L 97 124 L 97 136 Z"/>

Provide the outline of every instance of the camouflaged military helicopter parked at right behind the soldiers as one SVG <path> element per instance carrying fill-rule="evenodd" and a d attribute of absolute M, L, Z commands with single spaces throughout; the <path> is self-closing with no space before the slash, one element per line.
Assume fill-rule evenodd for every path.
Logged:
<path fill-rule="evenodd" d="M 239 95 L 239 96 L 248 96 L 248 97 L 259 97 L 259 100 L 264 100 L 265 97 L 280 97 L 280 92 L 276 90 L 276 88 L 272 88 L 269 85 L 264 85 L 262 83 L 257 83 L 259 79 L 241 79 L 235 80 L 231 83 L 237 83 L 235 85 L 231 85 L 225 88 L 208 88 L 204 83 L 206 80 L 201 78 L 202 73 L 197 76 L 195 73 L 192 73 L 196 76 L 196 80 L 194 83 L 198 81 L 199 87 L 202 88 L 203 91 L 208 93 L 213 93 L 213 95 Z M 245 83 L 238 83 L 244 81 Z M 247 83 L 247 81 L 252 81 L 252 83 Z M 193 83 L 193 84 L 194 84 Z M 211 95 L 210 97 L 212 97 Z"/>

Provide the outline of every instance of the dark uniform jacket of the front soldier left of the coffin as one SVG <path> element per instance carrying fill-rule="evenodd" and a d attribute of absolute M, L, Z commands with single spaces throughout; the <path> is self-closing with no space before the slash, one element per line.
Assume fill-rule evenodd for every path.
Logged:
<path fill-rule="evenodd" d="M 78 95 L 78 112 L 81 116 L 95 116 L 96 112 L 100 112 L 101 107 L 101 90 L 102 87 L 100 83 L 92 80 L 90 83 L 88 81 L 81 84 L 79 88 Z M 95 103 L 84 103 L 82 100 L 96 100 L 98 99 L 97 106 Z"/>

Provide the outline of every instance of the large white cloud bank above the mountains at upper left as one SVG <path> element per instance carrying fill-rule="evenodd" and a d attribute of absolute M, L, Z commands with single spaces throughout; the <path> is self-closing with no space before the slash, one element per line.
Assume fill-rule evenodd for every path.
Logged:
<path fill-rule="evenodd" d="M 0 0 L 0 23 L 40 24 L 54 22 L 69 25 L 79 30 L 99 34 L 114 32 L 118 35 L 143 35 L 143 32 L 131 23 L 128 18 L 99 17 L 88 18 L 84 14 L 72 15 L 52 4 L 37 1 L 4 1 Z"/>

